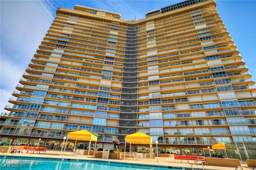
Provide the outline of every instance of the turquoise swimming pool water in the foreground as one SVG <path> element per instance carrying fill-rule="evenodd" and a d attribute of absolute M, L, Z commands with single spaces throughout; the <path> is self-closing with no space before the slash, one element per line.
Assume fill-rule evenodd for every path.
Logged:
<path fill-rule="evenodd" d="M 101 160 L 0 156 L 1 170 L 191 170 L 172 166 L 154 166 Z"/>

